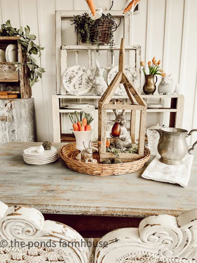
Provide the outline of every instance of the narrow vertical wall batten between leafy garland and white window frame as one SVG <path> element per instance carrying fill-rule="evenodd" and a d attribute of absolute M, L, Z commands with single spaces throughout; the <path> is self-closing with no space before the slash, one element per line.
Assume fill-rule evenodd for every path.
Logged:
<path fill-rule="evenodd" d="M 38 13 L 38 32 L 39 32 L 39 43 L 43 46 L 44 39 L 43 39 L 43 24 L 42 24 L 42 6 L 41 0 L 37 0 L 37 13 Z M 45 53 L 42 52 L 40 57 L 40 64 L 42 68 L 45 68 Z M 43 111 L 44 111 L 44 125 L 45 125 L 45 140 L 49 138 L 50 140 L 50 133 L 49 133 L 49 112 L 50 109 L 48 107 L 48 103 L 51 103 L 51 99 L 48 98 L 47 93 L 47 85 L 46 85 L 46 74 L 44 73 L 41 79 L 42 85 L 42 94 L 43 94 Z M 51 138 L 52 139 L 52 138 Z"/>

